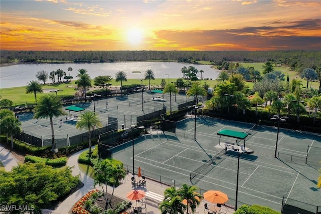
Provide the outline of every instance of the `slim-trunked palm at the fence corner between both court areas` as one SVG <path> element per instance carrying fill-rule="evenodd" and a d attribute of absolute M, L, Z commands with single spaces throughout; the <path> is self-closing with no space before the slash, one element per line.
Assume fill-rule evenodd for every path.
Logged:
<path fill-rule="evenodd" d="M 85 129 L 88 131 L 89 136 L 89 157 L 91 156 L 91 128 L 92 127 L 98 127 L 101 128 L 102 124 L 99 121 L 98 115 L 95 114 L 95 112 L 92 111 L 85 111 L 81 117 L 80 120 L 76 123 L 76 129 Z"/>

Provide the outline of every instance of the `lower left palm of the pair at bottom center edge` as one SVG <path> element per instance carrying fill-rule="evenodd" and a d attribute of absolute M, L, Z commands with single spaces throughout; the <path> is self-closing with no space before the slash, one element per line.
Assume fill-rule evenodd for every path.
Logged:
<path fill-rule="evenodd" d="M 163 200 L 158 207 L 162 214 L 184 214 L 186 206 L 182 203 L 180 196 L 171 197 L 171 200 Z"/>

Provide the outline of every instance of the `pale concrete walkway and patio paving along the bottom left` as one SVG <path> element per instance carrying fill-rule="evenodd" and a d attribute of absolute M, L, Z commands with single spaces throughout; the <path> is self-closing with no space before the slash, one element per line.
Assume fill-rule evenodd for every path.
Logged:
<path fill-rule="evenodd" d="M 13 166 L 18 165 L 16 158 L 10 153 L 10 151 L 5 149 L 4 147 L 0 146 L 0 150 L 1 150 L 1 153 L 0 153 L 1 154 L 1 161 L 5 165 L 6 171 L 11 171 Z M 84 149 L 84 150 L 86 150 L 86 149 Z M 43 214 L 67 214 L 70 211 L 70 209 L 72 208 L 72 206 L 87 192 L 89 192 L 92 189 L 96 189 L 96 188 L 101 189 L 98 185 L 96 187 L 94 187 L 94 180 L 91 177 L 82 173 L 78 167 L 78 156 L 84 150 L 74 153 L 72 156 L 70 156 L 68 158 L 68 161 L 67 161 L 67 166 L 73 167 L 72 174 L 74 176 L 79 175 L 79 178 L 84 183 L 84 186 L 81 189 L 78 189 L 73 194 L 71 194 L 68 198 L 66 198 L 55 210 L 49 210 L 49 209 L 42 210 Z M 127 174 L 125 179 L 123 179 L 121 181 L 121 184 L 115 188 L 115 191 L 114 191 L 115 196 L 122 198 L 124 200 L 127 200 L 126 194 L 127 194 L 127 192 L 132 190 L 131 180 L 130 180 L 131 177 L 132 177 L 131 174 Z M 163 195 L 164 190 L 168 187 L 169 186 L 167 186 L 167 185 L 163 185 L 158 182 L 151 181 L 151 180 L 147 179 L 146 180 L 146 188 L 140 187 L 140 189 L 143 191 L 152 191 L 152 192 Z M 111 186 L 108 186 L 108 192 L 109 193 L 112 192 Z M 197 207 L 196 212 L 198 212 L 200 214 L 202 214 L 202 213 L 207 214 L 207 212 L 204 212 L 204 203 L 205 202 L 206 201 L 204 201 L 204 200 L 201 201 L 201 204 L 199 207 Z M 151 200 L 147 200 L 146 209 L 147 209 L 146 214 L 160 214 L 161 213 L 161 211 L 158 209 L 158 204 L 156 202 L 151 201 Z M 229 208 L 226 206 L 222 206 L 221 210 L 223 213 L 227 213 L 227 214 L 234 213 L 234 210 L 232 208 Z M 142 213 L 144 213 L 144 210 L 142 211 Z"/>

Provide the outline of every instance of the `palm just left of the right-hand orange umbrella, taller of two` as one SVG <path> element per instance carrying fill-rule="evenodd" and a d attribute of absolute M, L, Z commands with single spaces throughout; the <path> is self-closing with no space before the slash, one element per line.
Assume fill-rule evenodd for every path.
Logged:
<path fill-rule="evenodd" d="M 187 200 L 187 214 L 189 213 L 189 206 L 191 207 L 192 213 L 195 212 L 197 206 L 200 205 L 200 200 L 196 198 L 199 197 L 200 199 L 203 196 L 196 192 L 198 188 L 196 186 L 190 186 L 186 183 L 182 184 L 182 187 L 177 190 L 177 194 L 181 197 L 181 199 Z"/>

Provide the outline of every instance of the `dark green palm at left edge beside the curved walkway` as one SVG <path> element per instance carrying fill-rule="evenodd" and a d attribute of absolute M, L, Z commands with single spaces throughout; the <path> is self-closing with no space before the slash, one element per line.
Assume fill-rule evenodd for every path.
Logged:
<path fill-rule="evenodd" d="M 21 122 L 15 116 L 6 116 L 1 119 L 1 132 L 10 135 L 11 138 L 11 149 L 14 148 L 14 137 L 13 135 L 21 132 Z M 8 141 L 8 138 L 7 138 Z"/>

